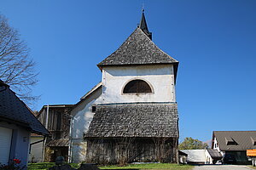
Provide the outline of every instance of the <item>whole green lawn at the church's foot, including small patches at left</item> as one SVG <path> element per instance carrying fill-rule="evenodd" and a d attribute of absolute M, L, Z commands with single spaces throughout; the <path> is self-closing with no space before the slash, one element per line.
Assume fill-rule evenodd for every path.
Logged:
<path fill-rule="evenodd" d="M 71 163 L 72 167 L 79 168 L 77 163 Z M 44 163 L 29 163 L 28 170 L 47 170 L 49 167 L 55 166 L 54 162 L 44 162 Z M 177 165 L 172 163 L 145 163 L 145 164 L 128 164 L 124 167 L 119 166 L 105 166 L 100 167 L 101 169 L 172 169 L 172 170 L 191 170 L 193 166 L 190 165 Z"/>

